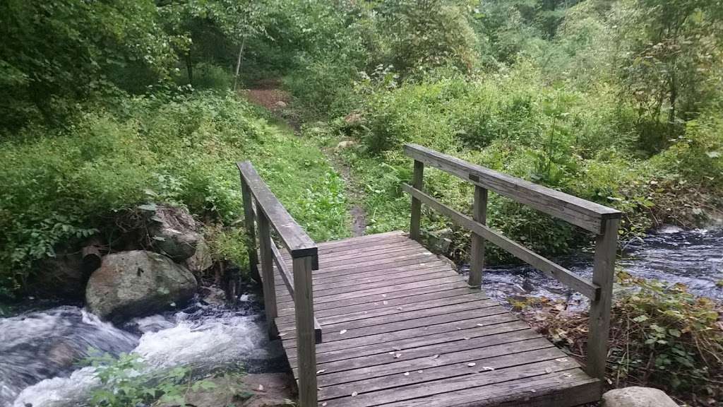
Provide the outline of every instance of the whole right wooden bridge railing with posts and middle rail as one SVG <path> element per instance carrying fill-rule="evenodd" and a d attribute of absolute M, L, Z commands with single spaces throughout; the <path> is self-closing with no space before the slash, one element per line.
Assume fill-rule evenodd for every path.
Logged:
<path fill-rule="evenodd" d="M 470 164 L 416 144 L 407 144 L 404 146 L 404 152 L 414 159 L 412 185 L 403 185 L 404 190 L 412 196 L 410 237 L 419 240 L 422 204 L 426 204 L 472 232 L 470 285 L 479 287 L 482 284 L 484 244 L 485 241 L 489 241 L 590 298 L 586 369 L 591 377 L 604 379 L 620 211 Z M 424 164 L 449 172 L 475 186 L 472 217 L 455 211 L 422 191 Z M 592 281 L 579 277 L 565 267 L 545 259 L 487 227 L 485 224 L 488 190 L 593 232 L 596 240 Z"/>

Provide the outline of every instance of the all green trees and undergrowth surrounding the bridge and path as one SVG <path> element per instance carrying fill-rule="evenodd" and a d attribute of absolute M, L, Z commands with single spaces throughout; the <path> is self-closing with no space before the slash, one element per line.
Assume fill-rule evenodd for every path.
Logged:
<path fill-rule="evenodd" d="M 723 1 L 8 0 L 0 33 L 7 298 L 39 259 L 90 235 L 112 251 L 148 202 L 187 206 L 215 259 L 244 266 L 234 167 L 244 159 L 316 240 L 349 234 L 350 189 L 367 232 L 407 227 L 406 142 L 614 206 L 628 237 L 723 218 Z M 282 114 L 302 123 L 298 135 L 236 92 L 270 80 L 293 96 Z M 469 211 L 469 185 L 427 174 L 430 193 Z M 589 243 L 500 196 L 488 219 L 547 255 Z M 448 254 L 466 259 L 466 232 L 427 211 L 423 225 L 451 228 Z M 660 340 L 670 343 L 698 318 L 619 306 L 631 304 L 667 324 Z M 690 332 L 717 329 L 715 307 L 706 312 Z M 645 321 L 630 340 L 656 351 Z M 660 363 L 689 362 L 695 377 L 716 380 L 700 369 L 721 357 L 719 341 L 700 358 L 688 343 L 667 346 Z M 661 377 L 649 379 L 714 393 Z"/>

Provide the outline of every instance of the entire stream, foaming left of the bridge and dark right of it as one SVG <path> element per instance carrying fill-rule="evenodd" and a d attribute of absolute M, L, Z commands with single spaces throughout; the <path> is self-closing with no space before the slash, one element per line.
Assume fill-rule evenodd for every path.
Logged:
<path fill-rule="evenodd" d="M 589 256 L 556 261 L 591 277 Z M 667 227 L 628 242 L 617 265 L 638 277 L 680 282 L 696 295 L 723 301 L 723 288 L 716 285 L 723 280 L 723 230 Z M 531 267 L 489 268 L 484 290 L 502 303 L 544 296 L 568 301 L 573 309 L 586 306 L 581 295 Z M 278 341 L 268 340 L 262 306 L 253 294 L 241 295 L 236 309 L 195 300 L 184 309 L 121 327 L 78 306 L 56 306 L 0 319 L 0 406 L 83 406 L 89 390 L 98 385 L 93 367 L 78 364 L 90 348 L 114 355 L 138 353 L 150 371 L 174 366 L 201 373 L 239 366 L 252 373 L 288 368 Z"/>

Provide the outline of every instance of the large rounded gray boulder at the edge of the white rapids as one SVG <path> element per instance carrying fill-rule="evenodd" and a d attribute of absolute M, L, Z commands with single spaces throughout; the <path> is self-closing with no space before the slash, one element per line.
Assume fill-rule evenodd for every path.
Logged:
<path fill-rule="evenodd" d="M 193 274 L 168 257 L 125 251 L 103 257 L 103 264 L 90 275 L 85 301 L 94 314 L 119 321 L 188 301 L 196 289 Z"/>

